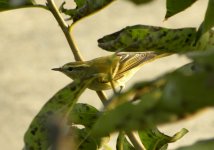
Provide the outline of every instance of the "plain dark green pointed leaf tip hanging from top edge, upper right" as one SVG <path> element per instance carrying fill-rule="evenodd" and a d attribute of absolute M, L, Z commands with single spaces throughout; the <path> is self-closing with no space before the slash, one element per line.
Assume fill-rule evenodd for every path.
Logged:
<path fill-rule="evenodd" d="M 165 19 L 184 11 L 186 8 L 190 7 L 197 0 L 167 0 L 166 2 L 166 15 Z"/>

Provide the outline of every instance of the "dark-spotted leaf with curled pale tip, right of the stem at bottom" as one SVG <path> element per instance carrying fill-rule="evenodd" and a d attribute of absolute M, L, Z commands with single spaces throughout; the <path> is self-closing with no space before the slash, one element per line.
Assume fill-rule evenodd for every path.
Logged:
<path fill-rule="evenodd" d="M 182 129 L 172 137 L 161 133 L 157 128 L 148 128 L 138 131 L 141 142 L 145 146 L 146 150 L 154 149 L 167 149 L 168 143 L 175 142 L 182 138 L 188 131 Z"/>

